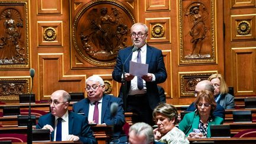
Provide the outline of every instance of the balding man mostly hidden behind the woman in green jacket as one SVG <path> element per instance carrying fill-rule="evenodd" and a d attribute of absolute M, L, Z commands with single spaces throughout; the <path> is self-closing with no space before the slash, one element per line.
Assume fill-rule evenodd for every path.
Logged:
<path fill-rule="evenodd" d="M 200 81 L 199 83 L 197 83 L 195 88 L 195 97 L 197 96 L 197 92 L 203 91 L 203 90 L 214 92 L 215 88 L 213 87 L 212 82 L 208 80 Z M 186 111 L 195 111 L 195 110 L 196 110 L 196 105 L 192 103 L 190 104 L 190 106 L 187 108 Z M 215 111 L 213 111 L 213 116 L 222 117 L 223 119 L 225 119 L 225 109 L 220 104 L 217 104 Z"/>

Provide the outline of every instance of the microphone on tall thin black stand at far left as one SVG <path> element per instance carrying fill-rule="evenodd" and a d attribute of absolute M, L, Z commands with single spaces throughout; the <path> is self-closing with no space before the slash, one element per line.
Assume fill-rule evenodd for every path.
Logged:
<path fill-rule="evenodd" d="M 31 95 L 32 95 L 32 88 L 33 88 L 33 78 L 34 78 L 35 70 L 33 68 L 30 69 L 30 77 L 31 77 L 31 90 L 30 90 L 30 100 L 29 100 L 29 107 L 28 107 L 28 126 L 27 126 L 27 143 L 32 144 L 32 120 L 31 120 Z"/>

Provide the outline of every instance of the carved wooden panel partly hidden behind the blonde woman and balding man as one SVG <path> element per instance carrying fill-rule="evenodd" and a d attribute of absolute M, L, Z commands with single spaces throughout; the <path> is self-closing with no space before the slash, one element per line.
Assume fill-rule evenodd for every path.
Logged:
<path fill-rule="evenodd" d="M 198 82 L 207 80 L 216 71 L 207 72 L 179 72 L 180 97 L 194 97 L 194 89 Z"/>

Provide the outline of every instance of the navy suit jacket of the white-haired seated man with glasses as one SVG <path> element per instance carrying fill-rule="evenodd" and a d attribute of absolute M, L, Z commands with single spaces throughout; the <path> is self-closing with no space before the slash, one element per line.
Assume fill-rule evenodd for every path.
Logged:
<path fill-rule="evenodd" d="M 73 104 L 73 112 L 84 113 L 88 117 L 89 113 L 89 99 L 85 98 L 78 103 Z M 111 116 L 110 105 L 112 103 L 119 104 L 117 113 Z M 103 95 L 102 109 L 101 109 L 101 123 L 114 126 L 114 133 L 112 138 L 120 137 L 120 140 L 127 141 L 127 136 L 124 136 L 123 125 L 125 123 L 124 111 L 122 108 L 123 100 L 121 98 L 114 97 L 113 95 Z"/>

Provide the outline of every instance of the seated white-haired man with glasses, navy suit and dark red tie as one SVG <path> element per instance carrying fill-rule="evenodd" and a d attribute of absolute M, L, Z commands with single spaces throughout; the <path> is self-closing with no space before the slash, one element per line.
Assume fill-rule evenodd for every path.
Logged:
<path fill-rule="evenodd" d="M 123 100 L 113 95 L 104 94 L 105 84 L 100 76 L 90 76 L 85 83 L 87 98 L 73 104 L 73 111 L 75 113 L 84 113 L 88 117 L 89 123 L 113 126 L 111 142 L 127 142 L 127 136 L 123 132 L 123 125 L 125 123 L 122 108 Z M 98 120 L 94 118 L 95 102 L 98 102 Z M 113 104 L 116 104 L 116 107 Z"/>

